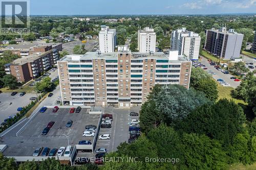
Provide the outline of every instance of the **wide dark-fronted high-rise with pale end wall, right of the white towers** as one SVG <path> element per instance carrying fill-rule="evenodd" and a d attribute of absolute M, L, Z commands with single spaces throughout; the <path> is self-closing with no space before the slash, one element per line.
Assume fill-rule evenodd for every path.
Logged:
<path fill-rule="evenodd" d="M 205 33 L 205 50 L 226 60 L 240 57 L 243 34 L 238 34 L 233 29 L 226 31 L 225 27 L 219 30 L 205 30 Z"/>

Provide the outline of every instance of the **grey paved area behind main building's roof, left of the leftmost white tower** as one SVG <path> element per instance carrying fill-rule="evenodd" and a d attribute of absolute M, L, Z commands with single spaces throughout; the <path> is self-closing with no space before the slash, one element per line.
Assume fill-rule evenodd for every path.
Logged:
<path fill-rule="evenodd" d="M 92 52 L 93 48 L 98 45 L 98 40 L 97 39 L 96 40 L 92 39 L 92 40 L 87 40 L 86 43 L 82 43 L 81 41 L 76 39 L 75 41 L 62 44 L 62 48 L 63 48 L 63 50 L 68 51 L 69 54 L 73 54 L 74 46 L 75 45 L 82 45 L 82 44 L 85 45 L 85 48 L 86 48 L 87 51 Z"/>

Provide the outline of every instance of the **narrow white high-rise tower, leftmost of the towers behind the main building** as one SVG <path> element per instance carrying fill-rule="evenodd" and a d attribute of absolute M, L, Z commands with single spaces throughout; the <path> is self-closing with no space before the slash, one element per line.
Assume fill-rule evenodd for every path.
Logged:
<path fill-rule="evenodd" d="M 99 50 L 101 53 L 113 53 L 117 45 L 116 29 L 101 26 L 99 32 Z"/>

